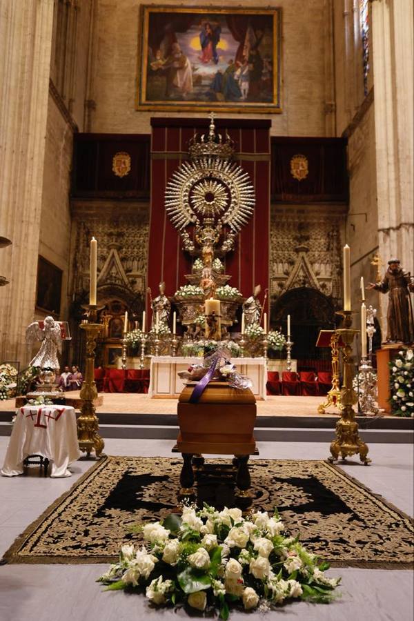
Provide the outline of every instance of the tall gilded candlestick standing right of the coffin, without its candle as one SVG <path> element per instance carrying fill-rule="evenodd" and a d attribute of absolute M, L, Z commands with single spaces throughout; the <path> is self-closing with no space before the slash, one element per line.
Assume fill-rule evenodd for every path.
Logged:
<path fill-rule="evenodd" d="M 334 462 L 341 455 L 345 460 L 348 455 L 359 454 L 359 458 L 365 465 L 371 462 L 368 459 L 368 446 L 361 440 L 358 433 L 358 424 L 355 421 L 355 411 L 353 405 L 357 403 L 357 395 L 353 390 L 353 355 L 352 344 L 357 330 L 353 330 L 351 311 L 342 311 L 342 326 L 335 331 L 342 340 L 343 358 L 343 384 L 341 390 L 341 417 L 336 424 L 336 440 L 331 443 L 331 455 L 329 462 Z M 339 339 L 338 339 L 339 340 Z"/>

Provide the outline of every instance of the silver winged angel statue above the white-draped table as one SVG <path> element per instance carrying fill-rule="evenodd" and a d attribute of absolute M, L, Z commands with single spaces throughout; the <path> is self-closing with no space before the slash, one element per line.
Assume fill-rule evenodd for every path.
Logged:
<path fill-rule="evenodd" d="M 43 324 L 43 327 L 41 327 Z M 59 360 L 57 352 L 62 351 L 61 327 L 59 322 L 55 322 L 53 317 L 46 317 L 44 322 L 32 322 L 26 328 L 26 342 L 33 344 L 41 341 L 41 346 L 37 354 L 30 361 L 30 366 L 40 368 L 52 368 L 59 371 Z"/>

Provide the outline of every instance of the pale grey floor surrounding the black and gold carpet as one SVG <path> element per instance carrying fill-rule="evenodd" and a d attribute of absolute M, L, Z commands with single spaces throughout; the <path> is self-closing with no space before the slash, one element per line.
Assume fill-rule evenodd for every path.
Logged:
<path fill-rule="evenodd" d="M 0 437 L 0 463 L 8 443 Z M 170 456 L 170 440 L 106 440 L 109 455 Z M 259 442 L 260 458 L 321 459 L 327 447 L 321 443 Z M 344 471 L 375 493 L 413 515 L 413 445 L 372 444 L 371 466 L 351 460 Z M 69 479 L 44 479 L 37 469 L 12 479 L 0 477 L 0 555 L 14 538 L 65 492 L 90 462 L 72 465 Z M 144 597 L 122 592 L 103 592 L 95 582 L 106 566 L 30 565 L 0 566 L 0 619 L 2 621 L 151 621 L 188 618 L 185 611 L 154 609 Z M 257 621 L 283 618 L 285 621 L 412 621 L 413 572 L 367 569 L 332 569 L 342 575 L 342 593 L 328 606 L 299 602 L 270 613 L 254 613 Z M 250 617 L 249 617 L 250 618 Z M 246 621 L 244 613 L 232 613 L 230 620 Z"/>

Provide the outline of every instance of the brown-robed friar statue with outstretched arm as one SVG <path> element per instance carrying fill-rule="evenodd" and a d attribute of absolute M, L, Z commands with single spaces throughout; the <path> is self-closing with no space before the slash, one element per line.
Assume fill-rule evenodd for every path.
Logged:
<path fill-rule="evenodd" d="M 400 260 L 390 259 L 382 282 L 371 282 L 367 289 L 388 293 L 386 342 L 413 343 L 414 322 L 410 291 L 414 291 L 414 278 L 402 269 Z"/>

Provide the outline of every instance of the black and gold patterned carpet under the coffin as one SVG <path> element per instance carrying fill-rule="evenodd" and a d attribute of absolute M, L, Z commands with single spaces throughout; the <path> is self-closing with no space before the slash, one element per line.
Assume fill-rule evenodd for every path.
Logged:
<path fill-rule="evenodd" d="M 208 460 L 209 461 L 209 460 Z M 215 460 L 217 462 L 217 460 Z M 177 506 L 181 460 L 106 457 L 12 544 L 10 563 L 106 563 L 131 527 Z M 253 509 L 277 506 L 286 527 L 333 566 L 411 569 L 413 522 L 323 461 L 252 460 Z"/>

